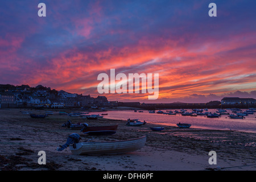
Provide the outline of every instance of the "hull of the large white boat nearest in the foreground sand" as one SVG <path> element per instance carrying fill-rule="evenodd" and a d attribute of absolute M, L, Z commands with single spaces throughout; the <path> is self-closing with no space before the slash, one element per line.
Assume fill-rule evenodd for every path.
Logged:
<path fill-rule="evenodd" d="M 111 142 L 81 142 L 69 146 L 73 155 L 105 155 L 123 154 L 141 149 L 146 143 L 147 137 Z"/>

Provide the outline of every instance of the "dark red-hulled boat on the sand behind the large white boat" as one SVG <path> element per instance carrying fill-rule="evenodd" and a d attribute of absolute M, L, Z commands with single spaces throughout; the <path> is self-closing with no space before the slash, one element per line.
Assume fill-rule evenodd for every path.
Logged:
<path fill-rule="evenodd" d="M 112 135 L 117 132 L 118 125 L 111 126 L 88 126 L 84 123 L 84 128 L 81 130 L 84 134 L 89 135 Z"/>

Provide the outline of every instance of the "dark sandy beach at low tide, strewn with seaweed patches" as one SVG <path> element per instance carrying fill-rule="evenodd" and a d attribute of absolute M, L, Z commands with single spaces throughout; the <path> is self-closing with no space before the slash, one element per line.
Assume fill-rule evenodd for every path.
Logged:
<path fill-rule="evenodd" d="M 238 131 L 180 129 L 164 126 L 163 131 L 151 131 L 160 126 L 146 123 L 139 127 L 126 126 L 126 121 L 59 115 L 61 110 L 44 119 L 31 118 L 30 111 L 44 114 L 45 110 L 0 110 L 0 170 L 30 171 L 255 171 L 256 134 Z M 75 112 L 76 110 L 72 110 Z M 81 110 L 77 110 L 81 111 Z M 107 136 L 89 136 L 80 130 L 61 127 L 71 119 L 72 123 L 88 123 L 89 126 L 118 124 L 117 133 Z M 112 141 L 138 138 L 147 135 L 146 145 L 138 151 L 118 155 L 76 156 L 69 148 L 56 151 L 66 142 L 69 134 L 78 133 L 81 142 Z M 46 165 L 39 165 L 39 151 L 46 152 Z M 216 151 L 217 164 L 210 165 L 208 155 Z"/>

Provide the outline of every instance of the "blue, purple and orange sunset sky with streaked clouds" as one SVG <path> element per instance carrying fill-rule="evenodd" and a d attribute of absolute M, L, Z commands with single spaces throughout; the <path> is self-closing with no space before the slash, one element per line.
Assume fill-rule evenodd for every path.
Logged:
<path fill-rule="evenodd" d="M 46 17 L 39 17 L 39 3 Z M 210 17 L 209 3 L 217 16 Z M 110 101 L 256 98 L 256 1 L 0 1 L 0 84 Z M 100 73 L 159 73 L 159 96 L 98 93 Z"/>

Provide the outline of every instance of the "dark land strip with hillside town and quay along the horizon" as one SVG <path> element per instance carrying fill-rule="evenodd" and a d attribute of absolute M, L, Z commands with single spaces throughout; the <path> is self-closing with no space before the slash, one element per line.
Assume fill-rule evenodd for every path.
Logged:
<path fill-rule="evenodd" d="M 77 93 L 68 93 L 64 90 L 55 90 L 46 86 L 38 85 L 10 85 L 0 84 L 0 108 L 81 108 L 102 109 L 131 107 L 147 110 L 156 109 L 203 109 L 203 108 L 249 108 L 256 106 L 254 98 L 224 97 L 221 101 L 207 103 L 159 103 L 145 104 L 141 102 L 108 101 L 105 96 L 91 97 L 90 94 L 83 96 Z"/>

